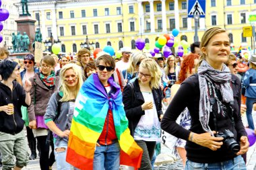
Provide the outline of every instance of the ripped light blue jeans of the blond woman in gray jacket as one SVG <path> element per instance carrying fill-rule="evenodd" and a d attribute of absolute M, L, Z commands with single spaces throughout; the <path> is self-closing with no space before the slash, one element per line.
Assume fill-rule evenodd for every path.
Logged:
<path fill-rule="evenodd" d="M 66 155 L 67 155 L 67 142 L 61 140 L 58 145 L 54 146 L 54 153 L 55 153 L 55 160 L 58 170 L 69 170 L 74 169 L 72 165 L 66 162 Z M 65 148 L 65 151 L 57 152 L 57 148 Z"/>

